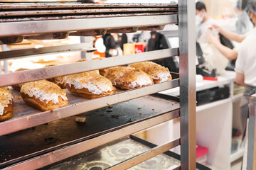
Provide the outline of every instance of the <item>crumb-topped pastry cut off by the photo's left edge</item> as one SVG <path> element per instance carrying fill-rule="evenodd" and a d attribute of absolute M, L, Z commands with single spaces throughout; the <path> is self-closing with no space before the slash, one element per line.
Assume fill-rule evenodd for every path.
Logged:
<path fill-rule="evenodd" d="M 0 88 L 0 122 L 14 115 L 14 97 L 5 87 Z"/>

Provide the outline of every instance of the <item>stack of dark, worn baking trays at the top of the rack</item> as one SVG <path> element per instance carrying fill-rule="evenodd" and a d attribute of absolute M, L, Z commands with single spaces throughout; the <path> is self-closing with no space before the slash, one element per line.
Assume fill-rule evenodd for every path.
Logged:
<path fill-rule="evenodd" d="M 116 15 L 165 15 L 167 13 L 178 13 L 178 6 L 169 6 L 169 4 L 0 5 L 0 9 L 1 22 L 116 17 Z"/>

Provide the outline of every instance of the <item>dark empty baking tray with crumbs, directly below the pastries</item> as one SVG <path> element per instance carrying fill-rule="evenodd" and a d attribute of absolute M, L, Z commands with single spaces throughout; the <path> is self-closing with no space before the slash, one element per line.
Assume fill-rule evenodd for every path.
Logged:
<path fill-rule="evenodd" d="M 178 108 L 179 103 L 176 101 L 159 96 L 144 96 L 3 135 L 0 137 L 0 168 L 176 111 Z M 85 123 L 76 123 L 77 117 L 86 118 Z"/>

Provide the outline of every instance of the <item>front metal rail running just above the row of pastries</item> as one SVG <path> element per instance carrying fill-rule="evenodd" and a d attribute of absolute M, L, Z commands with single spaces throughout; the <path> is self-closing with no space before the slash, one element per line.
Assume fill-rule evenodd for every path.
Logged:
<path fill-rule="evenodd" d="M 43 67 L 40 69 L 31 69 L 22 72 L 11 72 L 1 74 L 0 86 L 9 86 L 40 79 L 49 79 L 67 74 L 75 74 L 78 72 L 88 72 L 95 69 L 114 67 L 135 62 L 144 62 L 148 60 L 158 60 L 166 57 L 174 57 L 178 55 L 178 48 L 143 52 L 136 55 L 123 55 L 119 57 L 103 58 L 101 60 L 91 60 L 86 62 L 75 62 L 72 64 L 63 64 L 53 67 Z"/>

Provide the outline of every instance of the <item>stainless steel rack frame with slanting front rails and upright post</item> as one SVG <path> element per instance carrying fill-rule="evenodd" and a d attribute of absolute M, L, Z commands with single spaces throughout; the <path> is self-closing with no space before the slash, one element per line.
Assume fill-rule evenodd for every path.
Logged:
<path fill-rule="evenodd" d="M 116 5 L 118 7 L 118 4 Z M 164 5 L 163 5 L 164 6 Z M 162 6 L 162 7 L 163 7 Z M 189 6 L 189 7 L 188 7 Z M 64 20 L 48 20 L 48 21 L 20 21 L 20 22 L 4 22 L 0 23 L 1 37 L 15 36 L 31 36 L 43 35 L 48 33 L 75 33 L 87 30 L 118 30 L 122 28 L 149 28 L 152 26 L 164 26 L 166 24 L 178 24 L 179 26 L 179 48 L 159 50 L 154 52 L 145 52 L 138 55 L 127 55 L 121 57 L 112 57 L 105 60 L 92 60 L 87 62 L 78 62 L 73 64 L 65 64 L 54 67 L 46 67 L 42 69 L 33 69 L 23 72 L 14 72 L 0 75 L 0 86 L 19 84 L 28 81 L 36 81 L 39 79 L 48 79 L 58 77 L 65 74 L 74 74 L 78 72 L 87 72 L 94 69 L 114 67 L 117 65 L 131 64 L 134 62 L 142 62 L 147 60 L 156 60 L 166 57 L 180 57 L 180 78 L 167 81 L 161 84 L 154 84 L 140 89 L 131 91 L 117 91 L 112 96 L 105 96 L 94 100 L 86 100 L 75 98 L 68 95 L 71 101 L 65 108 L 59 108 L 49 112 L 38 112 L 32 108 L 24 107 L 23 103 L 17 104 L 21 112 L 18 112 L 14 118 L 0 123 L 0 135 L 7 135 L 11 132 L 24 130 L 43 123 L 49 123 L 53 120 L 68 118 L 72 115 L 78 115 L 85 111 L 92 111 L 97 108 L 128 101 L 133 98 L 139 98 L 149 94 L 155 94 L 159 91 L 171 89 L 180 86 L 180 108 L 175 105 L 165 113 L 159 113 L 154 117 L 142 118 L 141 120 L 129 125 L 122 125 L 106 132 L 93 135 L 75 143 L 70 143 L 55 149 L 48 150 L 45 154 L 33 154 L 34 157 L 21 157 L 8 162 L 1 162 L 0 166 L 8 164 L 5 169 L 38 169 L 55 162 L 59 162 L 68 157 L 72 157 L 89 149 L 105 145 L 107 142 L 118 140 L 121 137 L 132 135 L 146 128 L 151 128 L 159 123 L 168 120 L 181 118 L 181 139 L 168 142 L 164 145 L 156 147 L 151 152 L 139 155 L 136 159 L 129 159 L 127 162 L 112 166 L 110 169 L 125 169 L 132 165 L 139 164 L 146 159 L 155 157 L 157 154 L 166 152 L 167 150 L 181 145 L 181 169 L 196 169 L 196 64 L 195 64 L 195 37 L 194 37 L 194 13 L 195 2 L 190 0 L 180 0 L 178 2 L 178 15 L 165 14 L 145 15 L 142 16 L 105 16 L 105 18 L 77 18 Z M 189 31 L 188 31 L 189 30 Z M 10 55 L 11 56 L 11 55 Z M 15 57 L 18 57 L 15 55 Z M 0 59 L 1 60 L 1 59 Z M 16 102 L 18 103 L 18 101 Z M 25 111 L 23 112 L 22 111 Z M 8 136 L 7 136 L 8 137 Z M 28 155 L 27 155 L 28 156 Z M 138 159 L 139 158 L 139 159 Z M 17 161 L 18 160 L 18 161 Z M 23 161 L 22 161 L 23 160 Z M 139 161 L 140 160 L 140 161 Z M 20 161 L 20 162 L 19 162 Z M 15 163 L 10 165 L 10 163 Z"/>

